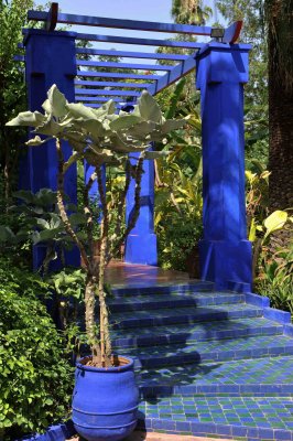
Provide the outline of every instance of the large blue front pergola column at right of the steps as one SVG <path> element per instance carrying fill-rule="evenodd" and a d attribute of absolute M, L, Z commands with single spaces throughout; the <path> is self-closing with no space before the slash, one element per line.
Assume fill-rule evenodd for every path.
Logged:
<path fill-rule="evenodd" d="M 245 201 L 243 84 L 248 82 L 245 44 L 210 43 L 197 56 L 202 95 L 204 237 L 200 271 L 217 289 L 252 278 Z"/>

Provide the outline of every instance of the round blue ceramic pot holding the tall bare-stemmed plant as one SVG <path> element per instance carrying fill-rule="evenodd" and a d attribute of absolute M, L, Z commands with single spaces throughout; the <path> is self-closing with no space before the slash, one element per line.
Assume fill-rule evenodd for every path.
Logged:
<path fill-rule="evenodd" d="M 139 391 L 133 361 L 119 357 L 120 366 L 76 365 L 73 394 L 73 422 L 88 441 L 118 441 L 133 431 L 138 422 Z"/>

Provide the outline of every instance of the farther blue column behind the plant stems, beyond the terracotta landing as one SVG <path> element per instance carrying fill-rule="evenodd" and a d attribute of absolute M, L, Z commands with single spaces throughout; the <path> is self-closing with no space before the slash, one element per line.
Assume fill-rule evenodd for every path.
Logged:
<path fill-rule="evenodd" d="M 131 164 L 137 164 L 139 153 L 131 153 Z M 124 260 L 128 263 L 158 265 L 156 235 L 154 234 L 154 163 L 143 162 L 143 174 L 140 194 L 140 215 L 135 227 L 131 230 L 126 243 Z M 131 179 L 127 194 L 127 224 L 134 207 L 135 181 Z"/>

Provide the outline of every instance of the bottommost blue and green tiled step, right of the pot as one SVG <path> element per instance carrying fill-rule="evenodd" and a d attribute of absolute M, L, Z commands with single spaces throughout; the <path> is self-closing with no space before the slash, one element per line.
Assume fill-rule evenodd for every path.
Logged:
<path fill-rule="evenodd" d="M 176 396 L 140 404 L 150 430 L 241 440 L 293 440 L 293 398 Z"/>

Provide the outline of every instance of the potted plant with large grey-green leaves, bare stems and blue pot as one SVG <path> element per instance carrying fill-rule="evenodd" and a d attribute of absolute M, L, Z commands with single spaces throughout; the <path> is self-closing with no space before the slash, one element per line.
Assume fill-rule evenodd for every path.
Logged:
<path fill-rule="evenodd" d="M 85 326 L 91 354 L 77 363 L 73 421 L 77 432 L 87 440 L 120 440 L 135 427 L 138 390 L 134 384 L 133 362 L 112 354 L 105 268 L 138 219 L 143 161 L 162 154 L 149 151 L 150 142 L 162 140 L 170 131 L 181 128 L 185 120 L 166 120 L 148 92 L 142 93 L 133 112 L 120 110 L 118 114 L 111 100 L 98 109 L 83 104 L 68 104 L 56 85 L 53 85 L 42 107 L 44 114 L 24 111 L 7 125 L 33 127 L 34 132 L 39 135 L 26 142 L 29 147 L 42 148 L 48 140 L 55 141 L 58 212 L 65 234 L 78 247 L 86 270 Z M 45 138 L 41 138 L 40 135 Z M 63 141 L 68 141 L 72 148 L 72 153 L 66 160 Z M 140 152 L 134 166 L 129 161 L 129 154 L 132 152 Z M 68 169 L 78 161 L 87 161 L 94 168 L 94 172 L 83 189 L 84 213 L 76 216 L 77 213 L 70 214 L 66 206 L 64 178 Z M 127 173 L 118 207 L 117 228 L 111 237 L 101 173 L 104 164 L 123 165 Z M 121 203 L 131 178 L 135 180 L 134 212 L 124 233 L 120 234 L 119 225 L 123 213 Z M 98 219 L 95 218 L 89 196 L 95 182 L 98 185 L 101 205 L 98 255 L 95 251 L 95 229 Z M 78 223 L 83 224 L 83 232 L 78 229 Z M 98 326 L 95 314 L 96 297 L 99 300 Z"/>

